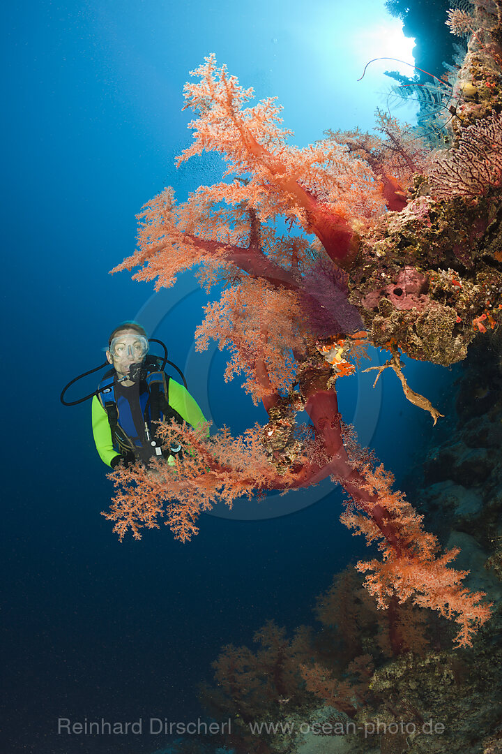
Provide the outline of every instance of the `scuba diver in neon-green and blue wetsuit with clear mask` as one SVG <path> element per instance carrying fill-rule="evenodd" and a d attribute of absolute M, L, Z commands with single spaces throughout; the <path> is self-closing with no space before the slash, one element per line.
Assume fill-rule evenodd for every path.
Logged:
<path fill-rule="evenodd" d="M 163 345 L 155 339 L 150 342 Z M 150 342 L 141 325 L 122 323 L 108 339 L 106 358 L 112 369 L 105 373 L 98 389 L 71 403 L 63 399 L 70 385 L 106 364 L 79 375 L 61 394 L 65 406 L 93 398 L 94 442 L 99 457 L 111 468 L 118 464 L 127 467 L 138 460 L 148 466 L 151 458 L 166 456 L 166 450 L 163 451 L 156 437 L 156 421 L 174 418 L 180 424 L 187 421 L 192 427 L 205 423 L 201 409 L 187 391 L 183 373 L 168 362 L 166 346 L 163 345 L 164 358 L 151 356 Z M 178 369 L 184 385 L 166 375 L 166 363 Z M 182 455 L 180 443 L 174 443 L 166 460 L 173 465 L 175 456 L 182 458 Z"/>

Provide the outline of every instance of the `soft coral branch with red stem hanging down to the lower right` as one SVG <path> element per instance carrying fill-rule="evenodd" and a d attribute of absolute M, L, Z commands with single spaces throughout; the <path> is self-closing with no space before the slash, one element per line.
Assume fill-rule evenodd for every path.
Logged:
<path fill-rule="evenodd" d="M 459 625 L 458 645 L 470 645 L 473 633 L 488 620 L 491 605 L 482 603 L 484 593 L 470 593 L 461 584 L 468 572 L 449 567 L 458 550 L 438 554 L 437 538 L 424 530 L 423 516 L 400 492 L 392 492 L 392 474 L 383 466 L 374 469 L 372 456 L 358 448 L 353 438 L 349 438 L 352 452 L 348 454 L 335 392 L 320 390 L 321 383 L 316 384 L 312 376 L 310 382 L 309 376 L 304 379 L 311 390 L 306 411 L 332 456 L 320 476 L 330 470 L 351 498 L 342 522 L 363 534 L 368 544 L 376 541 L 382 552 L 382 561 L 373 559 L 357 566 L 371 572 L 365 582 L 370 593 L 382 607 L 388 608 L 394 597 L 400 602 L 411 599 L 415 605 L 453 618 Z"/>

